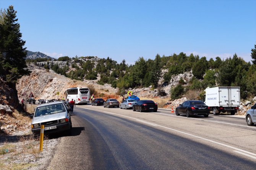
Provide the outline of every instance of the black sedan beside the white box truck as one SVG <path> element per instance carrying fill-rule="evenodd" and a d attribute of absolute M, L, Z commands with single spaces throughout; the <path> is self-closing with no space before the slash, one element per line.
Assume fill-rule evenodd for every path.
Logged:
<path fill-rule="evenodd" d="M 201 100 L 187 100 L 176 108 L 175 113 L 177 116 L 185 114 L 188 118 L 192 115 L 204 115 L 207 118 L 210 114 L 210 107 Z"/>

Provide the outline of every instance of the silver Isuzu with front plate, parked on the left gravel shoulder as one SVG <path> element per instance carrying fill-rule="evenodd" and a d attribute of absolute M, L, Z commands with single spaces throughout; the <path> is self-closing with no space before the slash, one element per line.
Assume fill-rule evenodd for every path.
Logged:
<path fill-rule="evenodd" d="M 71 109 L 68 109 L 62 101 L 38 105 L 32 119 L 32 133 L 35 136 L 40 135 L 41 125 L 44 125 L 46 134 L 70 130 L 72 128 L 70 111 Z"/>

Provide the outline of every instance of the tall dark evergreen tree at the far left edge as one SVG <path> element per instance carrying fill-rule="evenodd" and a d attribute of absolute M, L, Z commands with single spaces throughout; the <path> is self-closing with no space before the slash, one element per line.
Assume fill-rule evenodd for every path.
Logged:
<path fill-rule="evenodd" d="M 9 6 L 0 22 L 0 74 L 13 89 L 19 78 L 29 74 L 25 69 L 27 52 L 26 48 L 23 48 L 26 41 L 21 40 L 22 34 L 16 13 L 13 6 Z"/>

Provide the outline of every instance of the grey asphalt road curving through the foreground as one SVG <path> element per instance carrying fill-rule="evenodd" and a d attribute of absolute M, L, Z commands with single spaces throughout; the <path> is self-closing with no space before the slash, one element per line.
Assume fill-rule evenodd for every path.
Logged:
<path fill-rule="evenodd" d="M 256 126 L 229 116 L 186 118 L 79 105 L 49 170 L 253 170 Z"/>

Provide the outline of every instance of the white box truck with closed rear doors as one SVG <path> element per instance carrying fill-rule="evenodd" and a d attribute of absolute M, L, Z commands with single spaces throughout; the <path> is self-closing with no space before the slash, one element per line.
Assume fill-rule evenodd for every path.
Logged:
<path fill-rule="evenodd" d="M 205 89 L 203 102 L 214 115 L 229 111 L 234 115 L 240 106 L 240 87 L 213 87 Z"/>

